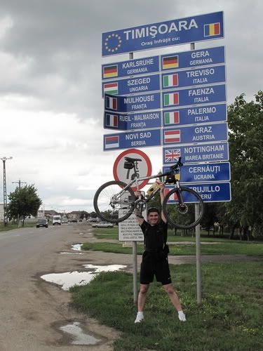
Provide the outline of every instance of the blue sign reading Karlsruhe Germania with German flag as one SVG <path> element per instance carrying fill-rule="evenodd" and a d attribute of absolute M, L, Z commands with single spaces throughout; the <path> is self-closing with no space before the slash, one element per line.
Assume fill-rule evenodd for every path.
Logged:
<path fill-rule="evenodd" d="M 135 60 L 102 65 L 102 80 L 136 76 L 137 74 L 149 74 L 159 71 L 159 56 L 135 58 Z"/>

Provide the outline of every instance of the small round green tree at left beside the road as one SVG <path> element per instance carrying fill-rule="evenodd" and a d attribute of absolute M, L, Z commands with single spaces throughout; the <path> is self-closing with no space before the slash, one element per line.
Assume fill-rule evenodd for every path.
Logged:
<path fill-rule="evenodd" d="M 23 219 L 24 226 L 27 216 L 35 216 L 42 204 L 41 199 L 36 194 L 34 185 L 26 185 L 25 187 L 17 187 L 14 192 L 8 195 L 9 204 L 7 206 L 7 215 L 9 218 Z"/>

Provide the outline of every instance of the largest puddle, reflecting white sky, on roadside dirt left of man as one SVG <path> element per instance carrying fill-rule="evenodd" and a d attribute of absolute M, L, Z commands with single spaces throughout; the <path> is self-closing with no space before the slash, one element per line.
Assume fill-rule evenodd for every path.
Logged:
<path fill-rule="evenodd" d="M 100 272 L 113 272 L 115 270 L 121 270 L 126 265 L 83 265 L 88 270 L 93 270 L 93 272 L 65 272 L 65 273 L 51 273 L 44 274 L 41 279 L 46 280 L 46 282 L 55 283 L 61 285 L 63 290 L 69 290 L 74 285 L 86 285 L 95 278 L 97 273 Z"/>

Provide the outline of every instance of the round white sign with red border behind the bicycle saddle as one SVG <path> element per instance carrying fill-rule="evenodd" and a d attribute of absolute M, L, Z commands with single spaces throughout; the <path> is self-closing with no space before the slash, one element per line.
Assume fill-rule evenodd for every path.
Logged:
<path fill-rule="evenodd" d="M 142 152 L 141 150 L 129 149 L 121 152 L 119 156 L 116 158 L 113 166 L 113 175 L 115 180 L 121 180 L 124 183 L 128 183 L 130 181 L 130 176 L 133 174 L 133 169 L 123 168 L 124 166 L 124 157 L 133 157 L 135 159 L 142 159 L 142 161 L 138 161 L 138 173 L 140 177 L 149 177 L 151 176 L 151 161 L 147 154 Z M 142 189 L 149 180 L 142 180 L 139 182 L 139 189 Z M 131 187 L 132 190 L 137 190 L 137 187 Z"/>

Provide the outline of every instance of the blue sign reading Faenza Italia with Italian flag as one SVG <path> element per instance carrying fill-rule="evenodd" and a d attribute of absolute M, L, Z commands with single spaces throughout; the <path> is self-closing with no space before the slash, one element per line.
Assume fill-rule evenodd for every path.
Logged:
<path fill-rule="evenodd" d="M 200 86 L 163 93 L 163 108 L 226 102 L 226 86 Z"/>

